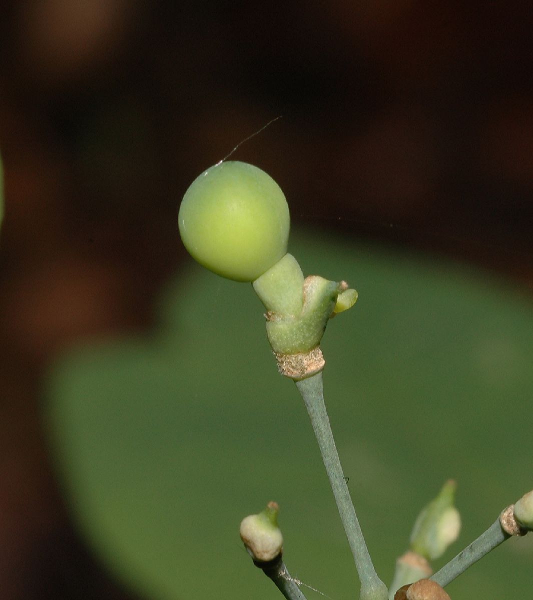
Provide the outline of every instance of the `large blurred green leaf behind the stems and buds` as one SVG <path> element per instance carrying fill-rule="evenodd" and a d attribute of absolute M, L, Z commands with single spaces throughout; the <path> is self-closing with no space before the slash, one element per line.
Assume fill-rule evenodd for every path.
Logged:
<path fill-rule="evenodd" d="M 531 302 L 439 260 L 313 232 L 293 242 L 306 274 L 359 292 L 325 333 L 325 397 L 376 568 L 390 581 L 427 497 L 453 477 L 463 533 L 442 564 L 532 487 Z M 353 597 L 318 448 L 253 290 L 191 265 L 164 293 L 160 323 L 72 350 L 47 382 L 58 475 L 95 553 L 147 598 L 276 598 L 238 532 L 276 500 L 294 577 Z M 510 541 L 450 594 L 527 597 L 532 557 L 527 538 Z"/>

